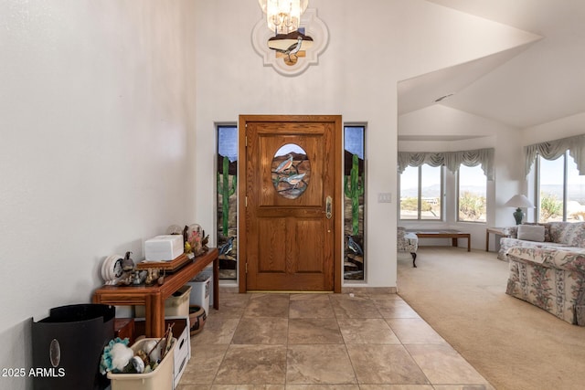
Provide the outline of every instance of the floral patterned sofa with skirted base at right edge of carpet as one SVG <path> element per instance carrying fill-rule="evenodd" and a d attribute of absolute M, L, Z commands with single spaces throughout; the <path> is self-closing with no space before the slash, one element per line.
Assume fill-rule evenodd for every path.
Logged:
<path fill-rule="evenodd" d="M 501 239 L 510 263 L 505 292 L 585 326 L 585 223 L 547 225 L 550 241 Z"/>

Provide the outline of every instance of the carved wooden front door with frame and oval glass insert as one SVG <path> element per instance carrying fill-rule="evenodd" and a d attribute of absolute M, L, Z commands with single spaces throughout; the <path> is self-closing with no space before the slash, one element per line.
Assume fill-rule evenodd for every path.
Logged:
<path fill-rule="evenodd" d="M 239 290 L 341 292 L 341 116 L 242 115 L 239 155 Z"/>

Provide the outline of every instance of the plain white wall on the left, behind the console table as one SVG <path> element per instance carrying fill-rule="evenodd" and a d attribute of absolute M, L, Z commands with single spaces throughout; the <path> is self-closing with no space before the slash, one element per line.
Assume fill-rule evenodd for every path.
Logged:
<path fill-rule="evenodd" d="M 101 262 L 186 220 L 194 3 L 0 3 L 0 367 L 30 318 L 90 301 Z M 0 388 L 31 388 L 0 377 Z"/>

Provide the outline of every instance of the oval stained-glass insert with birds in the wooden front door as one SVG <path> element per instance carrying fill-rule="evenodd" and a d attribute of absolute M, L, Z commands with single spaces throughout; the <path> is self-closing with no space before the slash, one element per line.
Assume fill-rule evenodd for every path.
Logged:
<path fill-rule="evenodd" d="M 287 199 L 296 199 L 307 189 L 311 163 L 301 146 L 286 143 L 274 153 L 271 173 L 276 192 Z"/>

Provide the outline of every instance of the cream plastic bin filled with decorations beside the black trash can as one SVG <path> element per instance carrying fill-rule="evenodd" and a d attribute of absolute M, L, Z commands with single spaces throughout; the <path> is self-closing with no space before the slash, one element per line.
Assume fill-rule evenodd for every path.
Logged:
<path fill-rule="evenodd" d="M 131 347 L 134 352 L 142 349 L 144 343 L 150 340 L 142 339 Z M 108 378 L 112 381 L 112 390 L 174 390 L 175 377 L 173 369 L 175 366 L 176 339 L 173 339 L 173 346 L 166 353 L 165 358 L 158 364 L 154 371 L 148 374 L 112 374 Z"/>

